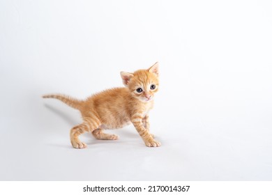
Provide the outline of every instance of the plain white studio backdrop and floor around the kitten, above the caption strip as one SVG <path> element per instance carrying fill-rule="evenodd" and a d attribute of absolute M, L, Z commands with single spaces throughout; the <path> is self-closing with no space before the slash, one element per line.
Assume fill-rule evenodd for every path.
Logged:
<path fill-rule="evenodd" d="M 272 180 L 271 1 L 0 1 L 0 180 Z M 75 98 L 160 62 L 147 148 L 84 134 Z"/>

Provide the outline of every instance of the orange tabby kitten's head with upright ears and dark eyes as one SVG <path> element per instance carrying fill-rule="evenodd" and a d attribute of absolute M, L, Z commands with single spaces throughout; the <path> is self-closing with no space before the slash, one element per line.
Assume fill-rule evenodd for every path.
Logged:
<path fill-rule="evenodd" d="M 133 73 L 121 72 L 123 84 L 128 87 L 133 97 L 142 102 L 153 100 L 158 91 L 158 62 L 147 70 L 137 70 Z"/>

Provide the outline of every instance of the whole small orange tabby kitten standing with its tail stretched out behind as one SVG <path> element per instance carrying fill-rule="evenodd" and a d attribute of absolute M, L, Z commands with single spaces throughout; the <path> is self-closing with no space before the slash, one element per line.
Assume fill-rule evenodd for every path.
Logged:
<path fill-rule="evenodd" d="M 79 136 L 91 132 L 96 139 L 118 139 L 115 134 L 103 130 L 117 129 L 133 123 L 146 146 L 158 147 L 160 143 L 149 133 L 149 110 L 153 108 L 154 94 L 158 91 L 158 62 L 147 70 L 133 73 L 121 72 L 126 87 L 112 88 L 96 93 L 86 100 L 76 100 L 66 95 L 44 95 L 56 98 L 70 107 L 80 110 L 83 123 L 70 130 L 74 148 L 86 148 Z"/>

